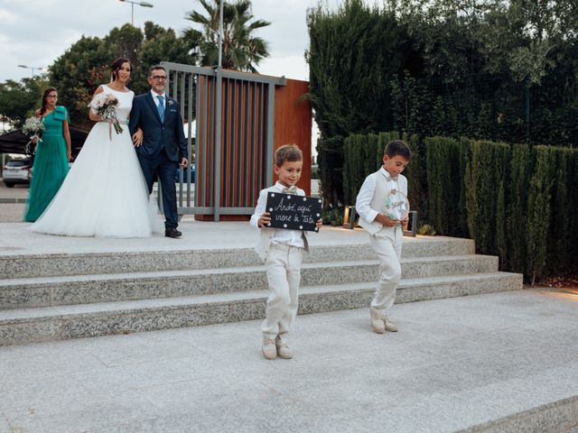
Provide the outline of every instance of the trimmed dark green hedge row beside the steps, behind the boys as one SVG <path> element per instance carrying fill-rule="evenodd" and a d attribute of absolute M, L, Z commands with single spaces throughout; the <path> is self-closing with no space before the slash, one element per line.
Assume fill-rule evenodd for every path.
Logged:
<path fill-rule="evenodd" d="M 356 134 L 344 141 L 344 193 L 355 198 L 396 134 Z M 406 137 L 404 137 L 406 138 Z M 578 151 L 488 141 L 410 139 L 409 199 L 421 223 L 439 235 L 471 237 L 479 253 L 499 255 L 500 269 L 532 283 L 578 273 Z M 375 164 L 369 161 L 375 161 Z"/>

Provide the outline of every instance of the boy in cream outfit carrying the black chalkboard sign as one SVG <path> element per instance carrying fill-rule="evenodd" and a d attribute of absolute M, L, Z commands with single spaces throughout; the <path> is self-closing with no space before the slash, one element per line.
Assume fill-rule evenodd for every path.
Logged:
<path fill-rule="evenodd" d="M 306 232 L 303 230 L 273 228 L 271 212 L 267 209 L 267 198 L 274 195 L 292 194 L 304 196 L 305 191 L 295 184 L 301 178 L 303 153 L 294 144 L 281 146 L 275 152 L 273 170 L 279 177 L 274 186 L 262 189 L 256 204 L 255 214 L 251 217 L 251 226 L 260 231 L 256 244 L 256 253 L 266 262 L 269 298 L 267 299 L 266 318 L 261 326 L 263 332 L 262 351 L 266 359 L 289 359 L 293 353 L 287 345 L 287 335 L 297 315 L 299 281 L 303 249 L 309 252 Z M 284 207 L 293 206 L 289 198 Z M 294 198 L 294 202 L 302 198 Z M 322 226 L 319 218 L 317 229 Z"/>

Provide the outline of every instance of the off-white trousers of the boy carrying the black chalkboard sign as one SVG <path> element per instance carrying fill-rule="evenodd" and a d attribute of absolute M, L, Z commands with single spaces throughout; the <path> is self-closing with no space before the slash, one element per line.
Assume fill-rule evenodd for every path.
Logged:
<path fill-rule="evenodd" d="M 272 244 L 266 258 L 269 298 L 266 318 L 261 325 L 264 340 L 281 340 L 291 329 L 297 315 L 303 248 Z"/>

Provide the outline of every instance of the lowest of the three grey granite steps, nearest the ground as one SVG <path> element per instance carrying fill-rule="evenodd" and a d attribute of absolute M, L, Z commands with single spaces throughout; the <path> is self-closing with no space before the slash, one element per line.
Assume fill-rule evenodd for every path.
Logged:
<path fill-rule="evenodd" d="M 519 274 L 487 272 L 402 281 L 396 302 L 522 288 Z M 303 287 L 299 314 L 367 307 L 373 283 Z M 0 311 L 0 345 L 264 318 L 266 290 Z"/>

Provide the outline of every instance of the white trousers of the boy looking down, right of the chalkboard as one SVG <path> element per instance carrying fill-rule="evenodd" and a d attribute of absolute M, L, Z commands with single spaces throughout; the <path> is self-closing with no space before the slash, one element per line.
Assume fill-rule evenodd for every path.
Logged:
<path fill-rule="evenodd" d="M 371 307 L 387 311 L 394 305 L 396 290 L 401 280 L 401 243 L 404 235 L 402 226 L 387 227 L 375 235 L 369 235 L 371 246 L 378 255 L 379 280 Z"/>

